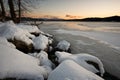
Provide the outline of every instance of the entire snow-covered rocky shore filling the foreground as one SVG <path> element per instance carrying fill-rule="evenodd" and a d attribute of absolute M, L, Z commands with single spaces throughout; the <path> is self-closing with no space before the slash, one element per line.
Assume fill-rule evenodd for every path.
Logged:
<path fill-rule="evenodd" d="M 70 43 L 63 40 L 55 47 L 55 66 L 48 59 L 53 50 L 53 36 L 37 26 L 0 23 L 0 79 L 27 80 L 103 80 L 95 73 L 104 75 L 102 62 L 88 54 L 72 55 L 64 52 Z M 48 54 L 49 53 L 49 54 Z M 96 63 L 99 70 L 87 61 Z"/>

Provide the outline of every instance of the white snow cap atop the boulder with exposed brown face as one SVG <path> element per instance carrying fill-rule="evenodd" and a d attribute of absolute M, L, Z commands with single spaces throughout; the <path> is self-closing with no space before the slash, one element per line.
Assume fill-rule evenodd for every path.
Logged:
<path fill-rule="evenodd" d="M 34 35 L 31 35 L 27 30 L 18 28 L 12 21 L 3 23 L 0 26 L 0 36 L 10 40 L 21 40 L 28 45 L 33 43 L 29 38 L 34 38 Z"/>

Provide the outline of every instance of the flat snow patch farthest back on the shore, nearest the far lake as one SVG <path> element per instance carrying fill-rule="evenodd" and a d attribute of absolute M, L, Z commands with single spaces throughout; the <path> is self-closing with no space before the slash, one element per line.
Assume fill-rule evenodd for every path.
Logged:
<path fill-rule="evenodd" d="M 34 32 L 40 33 L 40 30 L 38 29 L 37 26 L 25 25 L 25 24 L 18 24 L 17 26 L 23 30 L 27 30 L 30 33 L 34 33 Z"/>

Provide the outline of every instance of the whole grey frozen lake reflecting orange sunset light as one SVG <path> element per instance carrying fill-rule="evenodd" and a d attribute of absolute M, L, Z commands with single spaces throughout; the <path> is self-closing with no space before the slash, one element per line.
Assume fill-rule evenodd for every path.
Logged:
<path fill-rule="evenodd" d="M 106 71 L 120 78 L 120 23 L 44 22 L 39 27 L 53 34 L 57 41 L 69 41 L 73 54 L 99 57 Z"/>

